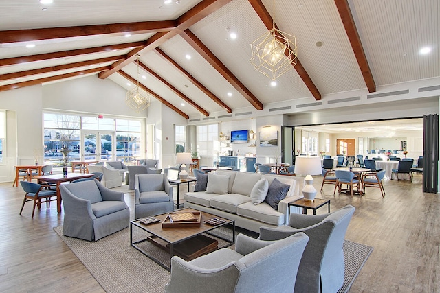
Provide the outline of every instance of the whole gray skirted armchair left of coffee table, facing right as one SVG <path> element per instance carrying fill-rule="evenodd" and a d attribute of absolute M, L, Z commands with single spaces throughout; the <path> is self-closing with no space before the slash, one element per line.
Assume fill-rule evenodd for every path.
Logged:
<path fill-rule="evenodd" d="M 63 235 L 96 241 L 129 226 L 124 193 L 98 180 L 60 185 L 64 207 Z"/>

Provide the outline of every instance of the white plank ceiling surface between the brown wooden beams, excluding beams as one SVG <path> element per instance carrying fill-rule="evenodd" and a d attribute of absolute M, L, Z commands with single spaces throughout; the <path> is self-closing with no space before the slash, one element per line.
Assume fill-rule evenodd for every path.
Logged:
<path fill-rule="evenodd" d="M 277 0 L 275 14 L 272 0 L 262 1 L 267 11 L 275 17 L 278 27 L 296 36 L 298 58 L 321 95 L 366 88 L 335 1 Z M 8 30 L 175 20 L 199 2 L 201 1 L 180 0 L 177 4 L 173 0 L 166 5 L 163 0 L 54 0 L 50 5 L 42 5 L 38 0 L 0 1 L 0 42 L 1 31 Z M 348 0 L 348 3 L 376 86 L 440 76 L 438 0 Z M 47 8 L 47 11 L 43 11 L 42 8 Z M 271 86 L 271 80 L 254 70 L 249 62 L 252 55 L 250 43 L 265 34 L 267 29 L 248 0 L 230 1 L 192 25 L 190 30 L 250 93 L 263 103 L 263 106 L 272 102 L 312 97 L 294 69 L 278 78 L 276 86 Z M 235 40 L 230 38 L 230 32 L 237 34 Z M 27 41 L 0 43 L 0 62 L 20 56 L 139 42 L 152 35 L 153 33 L 143 32 L 127 38 L 123 34 L 96 36 L 90 33 L 89 36 L 34 41 L 32 43 L 36 47 L 32 49 L 25 47 L 29 43 Z M 317 47 L 318 41 L 324 45 Z M 419 49 L 426 46 L 432 47 L 431 53 L 419 54 Z M 250 102 L 181 36 L 170 38 L 160 45 L 159 49 L 173 58 L 233 111 L 251 106 Z M 0 66 L 0 75 L 120 56 L 128 54 L 129 51 L 131 49 L 120 49 Z M 186 54 L 192 58 L 187 60 Z M 141 51 L 140 61 L 209 113 L 223 110 L 155 51 Z M 97 66 L 111 63 L 113 62 Z M 20 80 L 2 79 L 0 86 L 90 68 L 93 67 L 87 65 L 30 75 Z M 135 65 L 126 65 L 122 70 L 137 78 Z M 180 108 L 187 115 L 199 114 L 197 108 L 190 106 L 157 78 L 143 69 L 140 69 L 140 75 L 146 76 L 146 79 L 140 78 L 142 84 L 170 104 Z M 113 73 L 109 78 L 127 90 L 133 89 L 132 82 L 131 86 L 128 86 L 127 80 L 118 73 Z M 229 97 L 228 93 L 232 93 L 232 97 Z M 181 106 L 182 103 L 184 106 Z"/>

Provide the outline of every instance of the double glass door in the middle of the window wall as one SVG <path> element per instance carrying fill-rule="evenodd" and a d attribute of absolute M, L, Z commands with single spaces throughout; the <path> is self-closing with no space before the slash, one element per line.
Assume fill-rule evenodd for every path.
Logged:
<path fill-rule="evenodd" d="M 82 158 L 90 161 L 113 161 L 115 132 L 83 131 Z"/>

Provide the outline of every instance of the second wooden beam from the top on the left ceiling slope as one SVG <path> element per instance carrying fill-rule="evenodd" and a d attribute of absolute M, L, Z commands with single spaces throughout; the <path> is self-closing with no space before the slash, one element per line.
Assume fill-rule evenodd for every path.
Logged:
<path fill-rule="evenodd" d="M 113 51 L 113 50 L 130 49 L 130 48 L 144 46 L 145 44 L 146 44 L 146 42 L 143 41 L 143 42 L 133 42 L 133 43 L 125 43 L 125 44 L 117 44 L 117 45 L 108 45 L 108 46 L 102 46 L 102 47 L 91 47 L 91 48 L 85 48 L 85 49 L 75 49 L 75 50 L 69 50 L 69 51 L 59 51 L 59 52 L 53 52 L 53 53 L 5 58 L 5 59 L 0 59 L 0 67 L 9 66 L 9 65 L 17 65 L 17 64 L 28 63 L 28 62 L 36 62 L 36 61 L 42 61 L 42 60 L 50 60 L 50 59 L 56 59 L 56 58 L 67 58 L 67 57 L 74 57 L 74 56 L 80 56 L 80 55 L 95 54 L 95 53 Z"/>

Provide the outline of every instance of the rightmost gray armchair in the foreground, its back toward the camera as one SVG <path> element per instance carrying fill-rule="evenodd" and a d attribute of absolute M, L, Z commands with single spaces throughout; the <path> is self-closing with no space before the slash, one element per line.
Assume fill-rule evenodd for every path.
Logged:
<path fill-rule="evenodd" d="M 299 232 L 309 236 L 296 277 L 296 292 L 337 292 L 344 283 L 345 233 L 355 208 L 347 205 L 324 215 L 292 213 L 289 226 L 261 227 L 260 239 L 278 240 Z"/>

